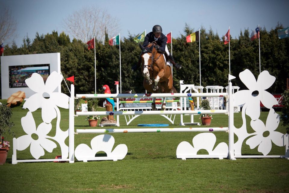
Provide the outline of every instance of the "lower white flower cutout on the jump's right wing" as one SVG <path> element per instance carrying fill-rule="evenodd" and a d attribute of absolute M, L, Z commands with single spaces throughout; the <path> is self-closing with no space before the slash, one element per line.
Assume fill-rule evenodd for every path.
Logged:
<path fill-rule="evenodd" d="M 269 111 L 266 126 L 260 119 L 255 121 L 251 120 L 251 127 L 256 131 L 256 135 L 249 138 L 246 141 L 246 144 L 249 145 L 251 149 L 254 149 L 259 145 L 258 151 L 263 153 L 263 155 L 267 155 L 271 151 L 272 142 L 277 146 L 284 146 L 283 134 L 275 131 L 279 122 L 280 116 L 275 113 L 274 109 L 270 109 Z M 264 136 L 264 132 L 267 132 L 267 134 L 269 133 L 269 135 Z"/>

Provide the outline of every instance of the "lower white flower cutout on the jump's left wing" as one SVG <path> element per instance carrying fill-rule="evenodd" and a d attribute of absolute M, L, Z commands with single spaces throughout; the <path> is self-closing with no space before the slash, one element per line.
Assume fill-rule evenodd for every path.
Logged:
<path fill-rule="evenodd" d="M 47 134 L 50 132 L 51 123 L 47 124 L 42 122 L 36 129 L 35 121 L 32 113 L 27 112 L 25 117 L 21 118 L 21 125 L 26 135 L 17 138 L 17 150 L 25 150 L 30 145 L 30 153 L 35 159 L 39 159 L 44 155 L 44 150 L 52 152 L 57 145 L 47 139 Z M 36 134 L 38 139 L 33 139 L 32 134 Z"/>

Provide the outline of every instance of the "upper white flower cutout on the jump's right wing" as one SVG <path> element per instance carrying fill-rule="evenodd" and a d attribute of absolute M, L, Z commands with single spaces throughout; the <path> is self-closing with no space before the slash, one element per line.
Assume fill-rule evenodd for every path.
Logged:
<path fill-rule="evenodd" d="M 240 90 L 234 94 L 234 106 L 246 103 L 246 114 L 249 115 L 252 120 L 256 120 L 260 116 L 260 101 L 268 109 L 278 104 L 275 97 L 266 91 L 276 79 L 274 76 L 271 76 L 268 71 L 261 72 L 257 81 L 248 69 L 241 72 L 239 77 L 249 90 Z M 254 91 L 257 96 L 252 95 Z"/>

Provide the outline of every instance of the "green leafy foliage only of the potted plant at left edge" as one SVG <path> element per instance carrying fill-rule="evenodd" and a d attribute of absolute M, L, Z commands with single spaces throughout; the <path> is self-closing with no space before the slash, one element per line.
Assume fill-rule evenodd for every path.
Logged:
<path fill-rule="evenodd" d="M 10 122 L 11 116 L 12 116 L 12 109 L 9 106 L 1 104 L 0 105 L 0 141 L 2 140 L 2 135 L 6 134 L 7 131 L 9 134 L 12 133 L 13 137 L 15 137 L 14 132 L 11 130 L 11 128 L 14 126 L 14 123 Z"/>

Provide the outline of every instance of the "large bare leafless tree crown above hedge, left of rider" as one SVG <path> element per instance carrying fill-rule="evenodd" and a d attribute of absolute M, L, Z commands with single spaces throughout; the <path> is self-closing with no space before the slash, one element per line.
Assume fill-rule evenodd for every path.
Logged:
<path fill-rule="evenodd" d="M 95 6 L 74 11 L 63 23 L 67 32 L 83 43 L 88 42 L 94 36 L 103 42 L 106 29 L 109 29 L 110 36 L 120 31 L 117 18 L 111 17 L 106 10 Z"/>

